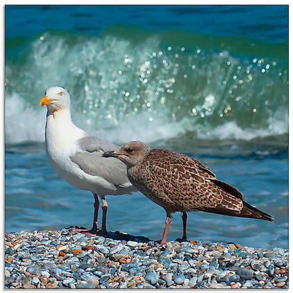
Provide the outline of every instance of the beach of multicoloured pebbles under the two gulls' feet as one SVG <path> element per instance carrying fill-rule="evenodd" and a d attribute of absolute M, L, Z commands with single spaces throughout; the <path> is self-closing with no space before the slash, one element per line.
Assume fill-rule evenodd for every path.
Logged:
<path fill-rule="evenodd" d="M 61 230 L 5 233 L 5 289 L 289 289 L 289 251 Z"/>

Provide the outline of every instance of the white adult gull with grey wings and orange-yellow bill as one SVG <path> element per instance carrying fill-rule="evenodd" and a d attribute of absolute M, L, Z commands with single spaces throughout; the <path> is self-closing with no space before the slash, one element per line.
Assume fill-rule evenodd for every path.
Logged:
<path fill-rule="evenodd" d="M 127 178 L 121 161 L 102 158 L 105 151 L 118 146 L 91 136 L 75 126 L 71 120 L 70 95 L 60 87 L 46 90 L 40 105 L 47 106 L 45 144 L 48 161 L 53 170 L 71 185 L 90 190 L 94 194 L 92 229 L 77 232 L 105 234 L 107 202 L 105 195 L 129 194 L 134 188 Z M 99 198 L 102 199 L 102 229 L 98 230 Z"/>

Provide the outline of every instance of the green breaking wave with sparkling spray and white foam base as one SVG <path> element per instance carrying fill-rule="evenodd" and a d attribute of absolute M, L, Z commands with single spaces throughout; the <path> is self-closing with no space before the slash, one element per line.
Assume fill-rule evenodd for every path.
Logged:
<path fill-rule="evenodd" d="M 6 60 L 6 143 L 44 140 L 39 101 L 53 85 L 71 94 L 78 126 L 116 143 L 288 133 L 287 58 L 183 45 L 155 33 L 135 42 L 43 34 Z"/>

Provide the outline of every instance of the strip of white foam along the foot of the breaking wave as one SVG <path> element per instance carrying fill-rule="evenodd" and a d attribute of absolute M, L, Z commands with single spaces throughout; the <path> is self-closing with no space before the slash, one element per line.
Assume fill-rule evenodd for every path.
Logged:
<path fill-rule="evenodd" d="M 43 142 L 45 130 L 45 108 L 33 108 L 25 104 L 22 98 L 14 93 L 5 103 L 5 141 L 9 144 L 22 142 Z M 277 116 L 277 115 L 275 115 Z M 150 118 L 152 121 L 150 121 Z M 273 117 L 267 128 L 242 129 L 235 121 L 227 122 L 212 128 L 211 126 L 193 125 L 190 118 L 181 121 L 167 122 L 164 114 L 152 118 L 147 111 L 122 120 L 116 127 L 100 128 L 87 126 L 83 117 L 73 114 L 73 120 L 89 133 L 101 139 L 123 144 L 126 141 L 140 140 L 146 143 L 161 139 L 176 138 L 186 132 L 193 132 L 202 140 L 245 140 L 264 138 L 271 135 L 288 133 L 288 118 L 280 120 Z"/>

